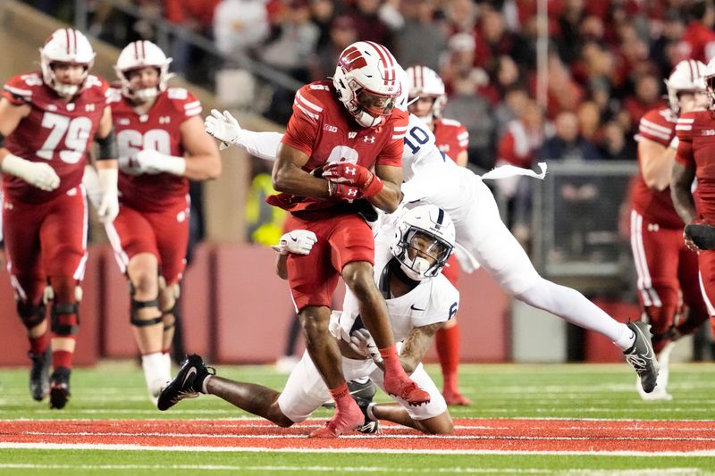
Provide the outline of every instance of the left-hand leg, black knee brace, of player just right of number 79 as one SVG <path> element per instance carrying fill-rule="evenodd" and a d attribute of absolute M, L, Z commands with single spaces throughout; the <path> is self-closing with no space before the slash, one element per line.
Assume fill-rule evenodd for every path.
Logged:
<path fill-rule="evenodd" d="M 162 354 L 164 323 L 159 303 L 159 252 L 147 218 L 122 205 L 113 223 L 105 225 L 120 270 L 130 281 L 130 324 L 141 354 L 149 398 L 171 380 L 171 367 Z"/>

